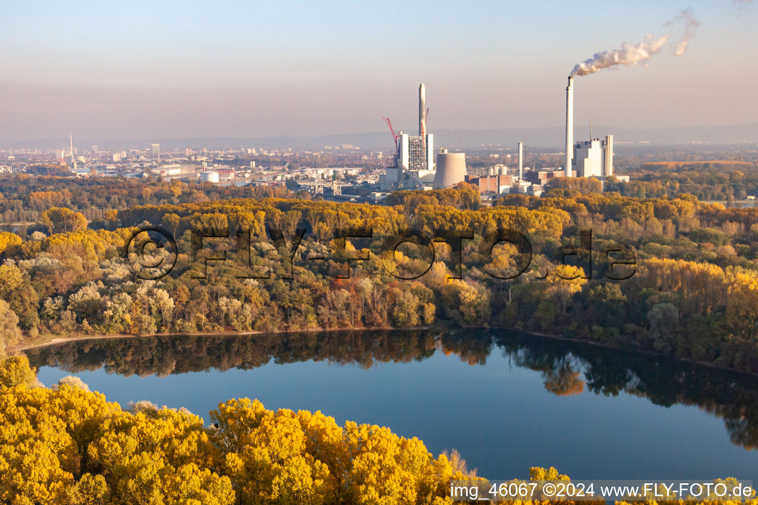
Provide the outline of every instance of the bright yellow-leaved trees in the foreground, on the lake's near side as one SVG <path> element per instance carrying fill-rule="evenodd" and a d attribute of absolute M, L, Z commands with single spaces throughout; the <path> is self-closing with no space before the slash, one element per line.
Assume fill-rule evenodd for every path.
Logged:
<path fill-rule="evenodd" d="M 84 386 L 45 388 L 26 357 L 0 362 L 0 503 L 441 505 L 451 480 L 472 477 L 417 438 L 321 412 L 242 398 L 205 426 Z"/>

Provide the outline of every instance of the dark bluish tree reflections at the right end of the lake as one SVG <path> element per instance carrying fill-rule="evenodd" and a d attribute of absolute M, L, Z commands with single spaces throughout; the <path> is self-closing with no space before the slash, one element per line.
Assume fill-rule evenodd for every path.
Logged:
<path fill-rule="evenodd" d="M 570 385 L 573 374 L 578 379 L 581 371 L 588 391 L 606 396 L 624 391 L 663 407 L 697 405 L 724 419 L 732 443 L 748 450 L 758 447 L 756 377 L 652 354 L 515 332 L 497 334 L 495 343 L 516 365 L 542 372 L 548 391 L 571 391 L 565 386 Z"/>

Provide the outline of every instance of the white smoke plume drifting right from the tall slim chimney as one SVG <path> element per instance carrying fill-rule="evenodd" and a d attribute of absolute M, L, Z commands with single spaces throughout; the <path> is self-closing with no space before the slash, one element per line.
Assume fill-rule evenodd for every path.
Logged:
<path fill-rule="evenodd" d="M 752 2 L 752 0 L 742 0 Z M 666 23 L 665 27 L 671 28 L 672 26 L 678 26 L 679 23 L 684 25 L 684 32 L 681 36 L 681 41 L 677 43 L 674 48 L 674 55 L 681 56 L 687 52 L 687 46 L 690 43 L 690 39 L 700 26 L 700 23 L 695 19 L 691 9 L 685 9 L 675 17 L 673 20 Z M 665 35 L 655 38 L 652 35 L 648 35 L 639 44 L 627 44 L 623 42 L 621 49 L 609 49 L 607 51 L 595 53 L 595 55 L 580 64 L 576 64 L 574 70 L 572 70 L 572 76 L 588 76 L 590 73 L 599 72 L 604 68 L 616 67 L 618 65 L 625 65 L 626 67 L 634 67 L 634 65 L 647 61 L 656 55 L 666 42 L 669 42 L 671 35 Z"/>

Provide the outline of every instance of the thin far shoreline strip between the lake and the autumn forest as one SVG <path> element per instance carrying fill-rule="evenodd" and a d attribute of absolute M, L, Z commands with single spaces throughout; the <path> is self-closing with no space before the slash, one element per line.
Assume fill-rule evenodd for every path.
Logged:
<path fill-rule="evenodd" d="M 641 353 L 641 354 L 647 354 L 649 356 L 664 357 L 664 358 L 669 358 L 672 360 L 678 360 L 684 363 L 708 366 L 709 368 L 724 370 L 725 372 L 741 373 L 750 377 L 758 377 L 758 373 L 751 373 L 751 372 L 747 372 L 746 370 L 730 368 L 728 366 L 719 366 L 719 365 L 716 365 L 715 363 L 709 363 L 707 361 L 698 361 L 698 360 L 693 360 L 687 357 L 675 356 L 672 354 L 662 354 L 662 353 L 659 353 L 656 351 L 650 351 L 647 349 L 619 348 L 612 345 L 603 344 L 602 342 L 595 342 L 591 340 L 581 340 L 579 338 L 565 337 L 563 335 L 557 335 L 553 333 L 531 332 L 531 331 L 526 331 L 522 329 L 505 328 L 503 326 L 471 326 L 471 327 L 462 326 L 460 328 L 456 327 L 456 329 L 467 329 L 467 328 L 468 329 L 497 329 L 497 330 L 519 332 L 519 333 L 524 333 L 525 335 L 534 335 L 541 338 L 551 338 L 557 341 L 568 341 L 568 342 L 573 342 L 575 344 L 594 345 L 600 348 L 610 349 L 610 350 L 615 350 L 615 351 L 622 351 L 622 352 L 627 352 L 627 353 Z M 75 335 L 70 338 L 54 337 L 50 340 L 43 340 L 43 341 L 40 341 L 39 339 L 37 339 L 36 341 L 30 341 L 26 343 L 11 345 L 5 349 L 5 354 L 10 356 L 14 354 L 23 353 L 23 351 L 46 348 L 46 347 L 50 347 L 56 344 L 66 344 L 69 342 L 81 342 L 81 341 L 87 341 L 87 340 L 108 340 L 111 338 L 191 337 L 191 336 L 211 337 L 211 336 L 221 336 L 221 335 L 229 335 L 229 336 L 232 336 L 232 335 L 234 336 L 286 335 L 286 334 L 294 334 L 294 333 L 326 333 L 326 332 L 356 332 L 356 331 L 377 332 L 377 331 L 388 331 L 388 330 L 394 331 L 394 332 L 409 332 L 409 331 L 423 331 L 423 330 L 449 331 L 450 328 L 438 327 L 438 326 L 416 326 L 414 328 L 393 328 L 391 326 L 377 326 L 377 327 L 371 327 L 371 328 L 294 329 L 294 330 L 278 330 L 274 332 L 261 332 L 257 330 L 249 330 L 246 332 L 198 332 L 198 333 L 178 332 L 178 333 L 150 333 L 147 335 L 130 335 L 128 333 L 115 333 L 113 335 Z"/>

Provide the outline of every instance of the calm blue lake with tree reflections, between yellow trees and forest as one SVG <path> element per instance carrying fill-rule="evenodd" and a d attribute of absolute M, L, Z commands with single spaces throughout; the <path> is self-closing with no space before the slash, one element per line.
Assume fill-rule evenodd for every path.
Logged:
<path fill-rule="evenodd" d="M 27 351 L 126 407 L 231 397 L 388 426 L 488 479 L 758 481 L 758 379 L 506 330 L 111 338 Z"/>

